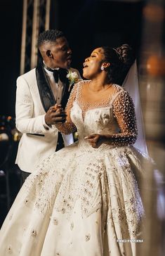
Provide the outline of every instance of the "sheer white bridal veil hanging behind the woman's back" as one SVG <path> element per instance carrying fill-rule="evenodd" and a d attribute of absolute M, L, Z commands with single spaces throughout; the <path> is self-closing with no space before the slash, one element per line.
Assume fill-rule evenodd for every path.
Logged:
<path fill-rule="evenodd" d="M 147 144 L 145 141 L 143 113 L 142 113 L 141 104 L 140 104 L 140 92 L 138 87 L 138 69 L 137 69 L 136 61 L 133 63 L 130 70 L 128 71 L 128 74 L 124 79 L 122 87 L 124 87 L 126 91 L 128 91 L 128 94 L 133 99 L 133 103 L 135 105 L 136 121 L 137 121 L 137 127 L 138 127 L 138 139 L 136 140 L 136 143 L 134 144 L 134 146 L 138 148 L 140 152 L 148 154 Z"/>

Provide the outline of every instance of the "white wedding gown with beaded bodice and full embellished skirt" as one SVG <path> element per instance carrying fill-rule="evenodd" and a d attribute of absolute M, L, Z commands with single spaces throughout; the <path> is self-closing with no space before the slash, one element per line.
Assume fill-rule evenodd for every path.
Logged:
<path fill-rule="evenodd" d="M 136 255 L 136 243 L 117 239 L 142 238 L 144 211 L 135 174 L 143 172 L 143 156 L 133 146 L 92 148 L 84 139 L 116 134 L 114 101 L 127 97 L 124 113 L 132 102 L 113 85 L 113 98 L 88 107 L 81 101 L 82 86 L 86 82 L 77 86 L 71 108 L 79 141 L 53 153 L 27 178 L 1 228 L 1 256 Z"/>

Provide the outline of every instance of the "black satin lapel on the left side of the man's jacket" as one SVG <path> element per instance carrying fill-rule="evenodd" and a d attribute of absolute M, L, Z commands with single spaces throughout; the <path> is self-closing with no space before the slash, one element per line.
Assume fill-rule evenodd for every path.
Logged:
<path fill-rule="evenodd" d="M 51 90 L 50 84 L 48 83 L 48 79 L 46 77 L 44 67 L 40 63 L 36 68 L 36 78 L 37 78 L 37 86 L 39 88 L 39 96 L 41 98 L 41 103 L 43 105 L 44 110 L 47 112 L 48 109 L 55 105 L 55 98 L 53 96 L 53 92 Z"/>

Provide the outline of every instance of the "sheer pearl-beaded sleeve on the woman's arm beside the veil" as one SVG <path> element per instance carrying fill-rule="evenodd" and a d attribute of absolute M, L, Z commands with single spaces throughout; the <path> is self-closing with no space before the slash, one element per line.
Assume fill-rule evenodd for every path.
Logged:
<path fill-rule="evenodd" d="M 127 146 L 135 143 L 138 136 L 136 115 L 133 101 L 127 91 L 122 91 L 115 99 L 113 113 L 119 124 L 119 133 L 112 135 L 112 145 Z"/>

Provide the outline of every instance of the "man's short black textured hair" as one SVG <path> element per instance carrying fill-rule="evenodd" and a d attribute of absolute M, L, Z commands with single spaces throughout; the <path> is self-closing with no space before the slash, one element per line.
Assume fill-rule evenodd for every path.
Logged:
<path fill-rule="evenodd" d="M 60 37 L 64 37 L 63 32 L 59 30 L 46 30 L 39 34 L 37 46 L 39 48 L 42 44 L 50 41 L 56 41 Z"/>

